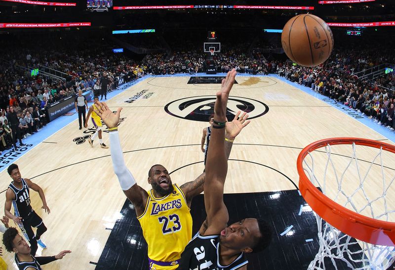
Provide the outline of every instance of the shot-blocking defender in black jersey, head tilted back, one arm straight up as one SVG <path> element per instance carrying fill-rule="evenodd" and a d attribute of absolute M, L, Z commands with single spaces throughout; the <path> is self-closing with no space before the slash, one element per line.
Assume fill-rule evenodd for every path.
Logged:
<path fill-rule="evenodd" d="M 214 122 L 206 163 L 204 204 L 207 218 L 197 235 L 181 254 L 179 270 L 236 270 L 246 269 L 243 253 L 262 250 L 271 241 L 271 229 L 263 221 L 244 219 L 227 226 L 229 213 L 223 200 L 228 171 L 225 155 L 226 109 L 229 92 L 235 82 L 236 70 L 228 72 L 217 92 Z M 248 125 L 244 115 L 240 123 Z"/>

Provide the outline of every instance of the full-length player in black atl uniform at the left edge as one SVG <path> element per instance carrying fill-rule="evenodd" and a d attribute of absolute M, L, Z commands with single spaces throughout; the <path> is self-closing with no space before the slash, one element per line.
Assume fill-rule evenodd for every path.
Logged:
<path fill-rule="evenodd" d="M 39 192 L 42 200 L 41 208 L 49 214 L 50 211 L 46 205 L 44 191 L 42 191 L 42 188 L 38 184 L 31 180 L 21 178 L 18 165 L 11 164 L 7 171 L 13 181 L 9 184 L 5 193 L 4 213 L 6 217 L 12 219 L 19 225 L 26 239 L 29 240 L 32 255 L 35 256 L 38 248 L 37 244 L 42 248 L 46 248 L 44 243 L 40 240 L 40 236 L 47 228 L 40 216 L 36 214 L 30 205 L 30 189 Z M 12 215 L 10 212 L 11 203 L 14 206 L 15 215 Z M 37 227 L 36 235 L 32 227 Z"/>

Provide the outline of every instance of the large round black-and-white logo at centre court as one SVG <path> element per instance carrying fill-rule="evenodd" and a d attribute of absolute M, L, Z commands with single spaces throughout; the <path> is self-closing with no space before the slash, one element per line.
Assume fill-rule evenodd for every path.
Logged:
<path fill-rule="evenodd" d="M 208 117 L 214 113 L 215 95 L 185 97 L 174 100 L 164 106 L 164 110 L 175 117 L 208 122 Z M 229 96 L 226 116 L 232 121 L 237 111 L 248 113 L 248 119 L 257 118 L 269 111 L 265 103 L 246 97 Z"/>

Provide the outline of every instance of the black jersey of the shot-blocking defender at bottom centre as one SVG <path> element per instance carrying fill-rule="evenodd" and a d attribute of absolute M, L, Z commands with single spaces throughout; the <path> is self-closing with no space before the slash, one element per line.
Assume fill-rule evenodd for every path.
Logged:
<path fill-rule="evenodd" d="M 244 254 L 228 266 L 219 262 L 219 235 L 203 236 L 199 233 L 185 247 L 177 270 L 236 270 L 248 264 Z"/>

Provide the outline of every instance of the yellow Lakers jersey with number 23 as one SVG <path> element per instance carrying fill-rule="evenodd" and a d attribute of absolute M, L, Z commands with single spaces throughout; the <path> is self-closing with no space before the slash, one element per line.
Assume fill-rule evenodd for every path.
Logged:
<path fill-rule="evenodd" d="M 173 192 L 156 198 L 151 189 L 144 213 L 137 217 L 148 244 L 148 257 L 160 262 L 181 258 L 192 238 L 192 216 L 185 195 L 178 185 Z"/>

